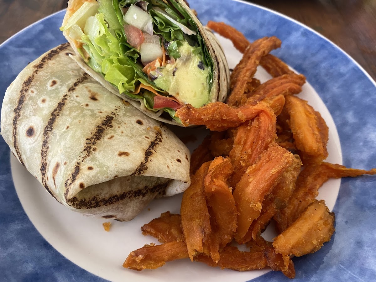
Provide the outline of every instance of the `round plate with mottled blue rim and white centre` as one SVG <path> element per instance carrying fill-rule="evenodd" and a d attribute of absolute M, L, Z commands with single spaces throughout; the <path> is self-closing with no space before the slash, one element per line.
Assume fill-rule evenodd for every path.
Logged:
<path fill-rule="evenodd" d="M 190 3 L 203 23 L 224 21 L 250 40 L 279 37 L 282 47 L 274 55 L 307 77 L 309 85 L 304 86 L 302 96 L 321 112 L 330 128 L 329 161 L 343 161 L 347 167 L 376 167 L 376 84 L 353 59 L 313 30 L 259 6 L 229 0 L 221 5 L 215 0 Z M 64 13 L 38 21 L 0 46 L 2 97 L 29 62 L 65 42 L 58 29 Z M 230 67 L 235 66 L 240 53 L 227 40 L 220 40 Z M 265 72 L 256 75 L 268 79 Z M 189 131 L 178 133 L 194 133 Z M 188 145 L 193 148 L 198 142 Z M 123 269 L 121 264 L 130 250 L 156 242 L 141 235 L 139 227 L 167 209 L 179 212 L 181 195 L 154 201 L 150 211 L 144 210 L 129 223 L 114 222 L 107 233 L 102 219 L 86 218 L 59 205 L 9 152 L 1 139 L 0 273 L 6 281 L 289 280 L 273 271 L 221 271 L 187 260 L 169 262 L 155 271 Z M 372 176 L 330 180 L 320 188 L 318 197 L 336 214 L 336 232 L 320 251 L 294 259 L 296 280 L 374 279 L 374 181 Z"/>

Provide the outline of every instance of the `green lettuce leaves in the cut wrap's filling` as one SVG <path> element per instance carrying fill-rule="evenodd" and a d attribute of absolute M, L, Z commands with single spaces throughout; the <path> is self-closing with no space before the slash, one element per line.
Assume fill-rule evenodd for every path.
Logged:
<path fill-rule="evenodd" d="M 203 38 L 200 36 L 196 23 L 175 0 L 97 0 L 97 2 L 98 4 L 83 5 L 79 9 L 79 13 L 70 18 L 69 25 L 61 29 L 71 28 L 73 32 L 73 27 L 75 29 L 80 27 L 83 30 L 82 35 L 77 33 L 78 37 L 81 35 L 81 38 L 77 41 L 83 43 L 85 50 L 80 50 L 80 52 L 86 52 L 89 56 L 82 53 L 82 57 L 88 57 L 87 64 L 97 73 L 101 73 L 105 80 L 116 86 L 120 94 L 132 99 L 142 100 L 146 108 L 158 111 L 153 109 L 155 94 L 152 92 L 143 91 L 138 95 L 132 94 L 139 83 L 151 86 L 156 91 L 161 91 L 161 89 L 143 72 L 143 65 L 139 63 L 138 59 L 139 51 L 127 42 L 121 9 L 129 7 L 129 5 L 141 5 L 143 9 L 147 9 L 153 19 L 154 33 L 161 35 L 164 41 L 170 42 L 166 48 L 169 56 L 175 59 L 180 58 L 178 47 L 182 45 L 183 41 L 188 41 L 191 46 L 196 47 L 194 49 L 195 55 L 202 57 L 203 63 L 212 70 L 211 56 Z M 158 9 L 155 9 L 156 7 L 162 9 L 162 11 L 158 11 Z M 183 33 L 177 23 L 169 19 L 163 11 L 174 21 L 194 30 L 196 35 Z M 83 23 L 85 23 L 84 27 Z M 208 85 L 210 89 L 212 71 L 210 71 Z M 174 117 L 175 111 L 173 109 L 167 108 L 164 111 L 180 122 L 179 118 Z"/>

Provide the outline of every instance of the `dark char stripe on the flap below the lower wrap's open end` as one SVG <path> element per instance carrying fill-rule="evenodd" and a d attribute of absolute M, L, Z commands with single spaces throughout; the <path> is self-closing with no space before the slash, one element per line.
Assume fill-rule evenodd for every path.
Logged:
<path fill-rule="evenodd" d="M 104 199 L 100 199 L 97 196 L 93 196 L 89 199 L 78 199 L 77 197 L 73 197 L 72 199 L 69 199 L 69 200 L 67 199 L 67 203 L 69 203 L 70 206 L 76 209 L 84 209 L 84 208 L 94 209 L 94 208 L 99 208 L 100 206 L 109 206 L 124 199 L 145 197 L 147 194 L 160 192 L 167 187 L 170 181 L 155 185 L 153 187 L 144 186 L 143 188 L 140 188 L 137 190 L 126 191 L 120 195 L 113 195 L 111 197 L 104 198 Z"/>

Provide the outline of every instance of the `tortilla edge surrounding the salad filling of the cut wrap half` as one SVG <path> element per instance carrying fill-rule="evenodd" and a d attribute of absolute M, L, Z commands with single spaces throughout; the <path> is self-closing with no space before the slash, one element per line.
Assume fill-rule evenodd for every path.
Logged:
<path fill-rule="evenodd" d="M 65 26 L 68 19 L 83 5 L 83 3 L 87 1 L 92 2 L 93 0 L 69 0 L 67 12 L 65 14 L 62 26 Z M 212 56 L 212 59 L 214 62 L 213 84 L 212 84 L 211 92 L 209 95 L 208 103 L 217 102 L 217 101 L 224 102 L 224 100 L 227 97 L 227 94 L 229 92 L 229 87 L 230 87 L 230 71 L 227 65 L 227 60 L 226 60 L 226 56 L 224 55 L 223 49 L 220 43 L 218 42 L 217 38 L 215 37 L 215 35 L 211 32 L 211 30 L 205 28 L 200 23 L 200 21 L 193 14 L 193 12 L 186 5 L 186 3 L 184 3 L 183 0 L 176 0 L 176 1 L 179 3 L 180 6 L 182 6 L 190 14 L 191 18 L 197 24 L 199 32 L 202 35 L 202 38 L 204 42 L 206 43 L 209 53 Z M 183 126 L 182 124 L 177 123 L 171 117 L 161 116 L 161 114 L 163 113 L 163 110 L 160 110 L 158 112 L 150 111 L 149 109 L 145 107 L 143 103 L 140 102 L 139 99 L 131 99 L 124 94 L 120 94 L 118 88 L 116 88 L 114 85 L 106 81 L 102 74 L 97 73 L 96 71 L 92 70 L 92 68 L 90 68 L 85 63 L 85 61 L 83 61 L 82 57 L 79 55 L 79 52 L 78 52 L 77 42 L 74 39 L 70 38 L 69 32 L 66 30 L 65 32 L 63 32 L 63 34 L 74 49 L 74 53 L 76 55 L 73 55 L 73 59 L 77 62 L 77 64 L 79 64 L 80 67 L 86 71 L 86 73 L 90 74 L 90 76 L 92 76 L 95 80 L 100 82 L 109 91 L 123 98 L 124 100 L 128 101 L 130 104 L 132 104 L 133 106 L 135 106 L 136 108 L 144 112 L 149 117 L 154 118 L 155 120 L 159 120 L 168 124 Z"/>

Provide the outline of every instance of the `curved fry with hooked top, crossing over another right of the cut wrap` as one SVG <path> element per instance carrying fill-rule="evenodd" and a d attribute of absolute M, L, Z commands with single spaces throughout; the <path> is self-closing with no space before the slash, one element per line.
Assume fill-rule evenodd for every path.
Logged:
<path fill-rule="evenodd" d="M 247 82 L 255 75 L 261 58 L 271 50 L 280 47 L 280 45 L 281 41 L 272 36 L 258 39 L 247 47 L 243 58 L 231 74 L 230 89 L 232 91 L 227 98 L 227 104 L 230 106 L 238 106 L 240 104 L 241 97 L 246 92 Z"/>

